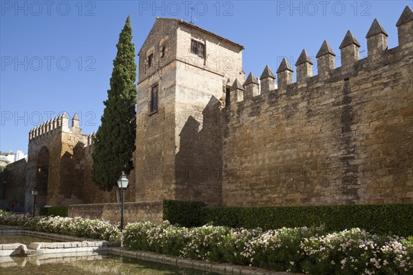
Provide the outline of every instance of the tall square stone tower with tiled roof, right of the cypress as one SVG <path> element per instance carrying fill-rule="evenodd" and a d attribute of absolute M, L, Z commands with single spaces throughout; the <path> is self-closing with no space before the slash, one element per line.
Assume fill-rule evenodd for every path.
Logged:
<path fill-rule="evenodd" d="M 157 18 L 139 51 L 136 201 L 222 203 L 222 118 L 244 47 Z M 226 101 L 226 102 L 225 102 Z"/>

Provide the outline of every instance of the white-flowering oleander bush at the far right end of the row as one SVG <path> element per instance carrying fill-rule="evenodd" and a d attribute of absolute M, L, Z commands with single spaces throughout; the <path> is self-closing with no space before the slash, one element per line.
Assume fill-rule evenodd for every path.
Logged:
<path fill-rule="evenodd" d="M 413 239 L 359 228 L 304 239 L 301 267 L 310 274 L 413 274 Z"/>

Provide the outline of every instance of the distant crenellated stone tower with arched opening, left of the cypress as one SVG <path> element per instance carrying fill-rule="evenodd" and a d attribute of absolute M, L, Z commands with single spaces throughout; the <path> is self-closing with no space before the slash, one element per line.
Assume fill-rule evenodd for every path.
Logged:
<path fill-rule="evenodd" d="M 25 206 L 32 206 L 31 190 L 39 195 L 37 206 L 81 203 L 83 183 L 83 148 L 87 136 L 79 128 L 78 116 L 66 113 L 43 122 L 29 133 L 28 174 Z"/>

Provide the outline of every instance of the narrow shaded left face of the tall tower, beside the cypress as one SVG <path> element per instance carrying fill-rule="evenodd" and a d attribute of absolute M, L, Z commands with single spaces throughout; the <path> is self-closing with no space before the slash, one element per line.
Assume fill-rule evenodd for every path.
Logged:
<path fill-rule="evenodd" d="M 136 201 L 158 201 L 175 196 L 173 167 L 177 24 L 173 20 L 156 19 L 139 51 L 134 158 Z M 149 66 L 150 55 L 153 60 Z M 152 91 L 157 96 L 153 99 L 153 105 Z"/>

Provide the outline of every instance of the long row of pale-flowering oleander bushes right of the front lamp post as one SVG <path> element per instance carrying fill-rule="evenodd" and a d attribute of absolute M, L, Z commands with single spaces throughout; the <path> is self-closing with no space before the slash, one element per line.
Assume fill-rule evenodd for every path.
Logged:
<path fill-rule="evenodd" d="M 379 236 L 359 228 L 248 230 L 204 225 L 180 228 L 164 221 L 129 223 L 123 245 L 195 260 L 307 274 L 413 274 L 413 237 Z"/>

